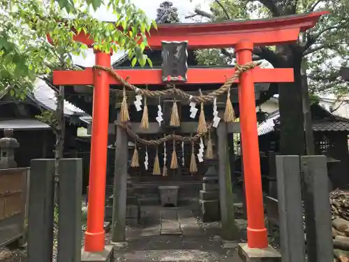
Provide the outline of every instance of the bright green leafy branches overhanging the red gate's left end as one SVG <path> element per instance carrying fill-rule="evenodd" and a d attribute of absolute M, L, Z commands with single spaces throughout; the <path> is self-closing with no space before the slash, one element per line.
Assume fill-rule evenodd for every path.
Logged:
<path fill-rule="evenodd" d="M 142 66 L 151 64 L 143 50 L 148 45 L 146 34 L 156 23 L 127 0 L 105 3 L 116 22 L 98 21 L 91 15 L 91 7 L 96 10 L 101 4 L 99 0 L 1 0 L 0 91 L 10 87 L 11 94 L 24 98 L 38 75 L 74 67 L 71 54 L 80 55 L 87 49 L 73 39 L 81 31 L 91 35 L 98 50 L 127 50 Z M 47 34 L 54 46 L 47 41 Z"/>

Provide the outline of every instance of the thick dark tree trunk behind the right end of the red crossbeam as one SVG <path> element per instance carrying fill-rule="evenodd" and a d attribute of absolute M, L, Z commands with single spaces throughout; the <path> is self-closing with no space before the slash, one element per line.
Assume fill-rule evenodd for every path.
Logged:
<path fill-rule="evenodd" d="M 282 48 L 282 49 L 281 49 Z M 279 67 L 294 68 L 295 81 L 279 84 L 280 153 L 304 154 L 304 117 L 302 110 L 302 53 L 288 46 L 278 47 L 285 57 Z"/>

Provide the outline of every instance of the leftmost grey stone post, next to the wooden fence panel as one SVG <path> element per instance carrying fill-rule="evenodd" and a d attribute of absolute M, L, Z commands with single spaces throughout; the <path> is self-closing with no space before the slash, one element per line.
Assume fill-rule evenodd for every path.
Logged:
<path fill-rule="evenodd" d="M 28 262 L 52 261 L 54 159 L 31 160 Z"/>

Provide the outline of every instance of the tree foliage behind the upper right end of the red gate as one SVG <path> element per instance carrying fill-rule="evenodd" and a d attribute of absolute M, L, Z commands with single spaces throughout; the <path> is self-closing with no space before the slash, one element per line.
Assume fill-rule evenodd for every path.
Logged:
<path fill-rule="evenodd" d="M 348 65 L 349 54 L 349 1 L 348 0 L 211 0 L 211 14 L 200 12 L 211 21 L 256 19 L 296 15 L 317 10 L 329 10 L 330 15 L 320 18 L 313 29 L 299 37 L 299 42 L 286 49 L 255 48 L 255 59 L 265 59 L 280 66 L 278 57 L 301 57 L 302 68 L 309 76 L 313 94 L 333 92 L 348 94 L 348 83 L 339 77 L 339 67 Z M 291 50 L 292 52 L 287 52 Z M 203 64 L 226 64 L 234 60 L 230 50 L 201 50 L 197 57 Z M 292 66 L 292 65 L 291 65 Z"/>

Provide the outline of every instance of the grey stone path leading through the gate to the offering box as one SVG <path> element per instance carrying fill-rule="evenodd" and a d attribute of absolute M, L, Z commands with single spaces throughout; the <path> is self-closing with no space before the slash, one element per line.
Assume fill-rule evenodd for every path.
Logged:
<path fill-rule="evenodd" d="M 142 224 L 128 227 L 126 236 L 128 245 L 115 249 L 115 261 L 241 262 L 237 245 L 223 249 L 186 208 L 142 208 Z"/>

